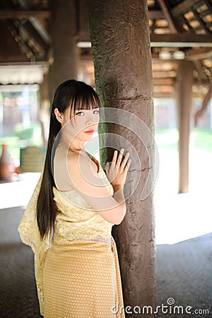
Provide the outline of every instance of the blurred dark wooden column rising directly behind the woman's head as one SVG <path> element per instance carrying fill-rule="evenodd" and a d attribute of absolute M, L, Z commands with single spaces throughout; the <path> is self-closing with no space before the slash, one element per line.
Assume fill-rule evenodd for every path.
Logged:
<path fill-rule="evenodd" d="M 57 86 L 67 79 L 77 78 L 77 8 L 75 0 L 51 1 L 51 50 L 49 88 L 50 99 Z"/>

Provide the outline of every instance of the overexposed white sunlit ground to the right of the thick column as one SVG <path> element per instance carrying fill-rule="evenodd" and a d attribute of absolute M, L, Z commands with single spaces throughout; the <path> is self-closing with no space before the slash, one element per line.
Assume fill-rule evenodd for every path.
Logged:
<path fill-rule="evenodd" d="M 190 152 L 189 193 L 177 194 L 177 151 L 160 150 L 155 186 L 156 244 L 172 244 L 212 232 L 212 153 Z"/>

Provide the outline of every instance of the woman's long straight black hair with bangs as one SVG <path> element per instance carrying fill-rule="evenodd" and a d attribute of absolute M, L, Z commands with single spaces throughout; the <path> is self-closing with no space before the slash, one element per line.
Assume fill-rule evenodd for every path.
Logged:
<path fill-rule="evenodd" d="M 100 100 L 95 90 L 86 83 L 76 80 L 68 80 L 58 86 L 54 93 L 49 123 L 49 139 L 45 158 L 44 171 L 40 193 L 37 198 L 37 225 L 40 237 L 45 238 L 52 230 L 58 213 L 57 204 L 54 201 L 53 187 L 55 187 L 52 175 L 52 146 L 59 134 L 61 124 L 57 120 L 54 110 L 57 108 L 61 114 L 71 106 L 73 114 L 76 110 L 100 107 Z M 70 114 L 71 114 L 70 111 Z"/>

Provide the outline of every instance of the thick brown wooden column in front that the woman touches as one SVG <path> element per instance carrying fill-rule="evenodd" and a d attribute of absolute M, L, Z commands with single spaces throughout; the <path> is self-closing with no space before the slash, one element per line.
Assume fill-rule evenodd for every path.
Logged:
<path fill-rule="evenodd" d="M 147 1 L 141 0 L 89 0 L 90 39 L 93 46 L 95 65 L 95 85 L 104 107 L 125 110 L 117 112 L 124 124 L 134 131 L 139 129 L 130 118 L 136 115 L 153 131 L 153 88 L 151 70 L 151 47 L 148 28 Z M 111 110 L 112 112 L 112 110 Z M 105 118 L 107 121 L 107 117 Z M 114 121 L 115 121 L 114 116 Z M 144 146 L 134 131 L 124 124 L 106 124 L 100 133 L 100 146 L 111 144 L 112 151 L 101 151 L 101 163 L 111 160 L 114 148 L 129 150 L 129 142 L 134 146 L 136 155 L 131 151 L 132 163 L 126 190 L 134 187 L 134 179 L 141 176 L 138 187 L 127 199 L 127 212 L 121 225 L 114 227 L 113 236 L 117 242 L 119 264 L 122 274 L 124 305 L 131 306 L 132 313 L 126 317 L 141 317 L 134 312 L 134 306 L 153 306 L 155 303 L 155 243 L 153 220 L 153 196 L 141 201 L 143 184 L 153 166 L 148 161 L 148 151 L 153 152 L 152 140 Z M 145 134 L 145 131 L 143 131 Z M 122 136 L 119 139 L 118 136 Z M 111 141 L 111 143 L 109 143 Z M 108 146 L 109 145 L 109 146 Z M 139 166 L 141 163 L 141 166 Z M 127 191 L 126 191 L 127 192 Z M 138 312 L 138 307 L 137 307 Z M 142 317 L 153 317 L 142 314 Z"/>

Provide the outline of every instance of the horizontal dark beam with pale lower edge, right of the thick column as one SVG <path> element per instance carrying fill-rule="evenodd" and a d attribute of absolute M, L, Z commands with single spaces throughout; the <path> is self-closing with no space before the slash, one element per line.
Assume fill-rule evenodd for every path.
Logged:
<path fill-rule="evenodd" d="M 151 47 L 212 47 L 212 35 L 151 33 Z"/>

